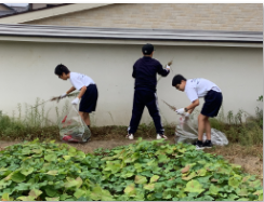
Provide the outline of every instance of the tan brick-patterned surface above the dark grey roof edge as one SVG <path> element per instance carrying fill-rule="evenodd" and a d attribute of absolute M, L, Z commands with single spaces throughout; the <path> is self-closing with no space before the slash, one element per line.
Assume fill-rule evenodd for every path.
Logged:
<path fill-rule="evenodd" d="M 262 31 L 262 3 L 126 3 L 26 22 L 36 25 Z"/>

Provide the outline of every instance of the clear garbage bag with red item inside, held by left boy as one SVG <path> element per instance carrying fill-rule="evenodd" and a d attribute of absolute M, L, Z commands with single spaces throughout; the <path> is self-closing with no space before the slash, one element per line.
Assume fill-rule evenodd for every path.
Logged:
<path fill-rule="evenodd" d="M 60 137 L 64 142 L 85 143 L 91 137 L 91 131 L 81 119 L 76 106 L 58 123 Z"/>

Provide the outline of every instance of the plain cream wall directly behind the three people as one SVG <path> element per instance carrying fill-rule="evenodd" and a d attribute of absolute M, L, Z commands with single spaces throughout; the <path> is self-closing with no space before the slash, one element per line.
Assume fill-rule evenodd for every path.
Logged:
<path fill-rule="evenodd" d="M 37 97 L 49 99 L 70 87 L 60 80 L 54 68 L 63 63 L 71 71 L 90 76 L 98 87 L 98 103 L 92 121 L 96 125 L 129 125 L 132 111 L 133 63 L 142 56 L 141 45 L 70 44 L 41 42 L 0 42 L 0 110 L 17 116 L 17 104 L 34 105 Z M 185 93 L 171 86 L 174 75 L 202 77 L 223 91 L 224 111 L 239 109 L 254 115 L 256 98 L 263 94 L 263 50 L 254 48 L 207 48 L 156 45 L 155 58 L 162 64 L 173 59 L 173 72 L 158 83 L 162 121 L 175 122 L 177 116 L 162 102 L 175 107 L 189 104 Z M 202 103 L 202 99 L 201 99 Z M 62 104 L 58 104 L 62 105 Z M 49 103 L 54 118 L 55 103 Z M 111 118 L 113 117 L 113 118 Z M 151 119 L 145 109 L 143 120 Z"/>

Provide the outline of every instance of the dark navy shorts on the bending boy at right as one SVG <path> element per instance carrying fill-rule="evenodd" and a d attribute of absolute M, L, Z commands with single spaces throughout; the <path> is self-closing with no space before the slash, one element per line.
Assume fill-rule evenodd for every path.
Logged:
<path fill-rule="evenodd" d="M 216 91 L 209 91 L 204 96 L 204 104 L 201 109 L 201 115 L 207 117 L 216 117 L 223 102 L 223 95 Z"/>

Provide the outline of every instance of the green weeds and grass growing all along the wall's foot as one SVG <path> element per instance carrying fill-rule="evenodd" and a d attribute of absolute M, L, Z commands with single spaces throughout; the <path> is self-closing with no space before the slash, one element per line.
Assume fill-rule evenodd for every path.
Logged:
<path fill-rule="evenodd" d="M 36 99 L 35 106 L 40 103 L 40 99 Z M 42 103 L 42 102 L 41 102 Z M 0 111 L 0 138 L 6 140 L 32 140 L 35 138 L 43 139 L 60 139 L 57 123 L 62 116 L 69 109 L 69 103 L 66 102 L 62 111 L 55 107 L 56 121 L 49 119 L 49 112 L 44 105 L 32 108 L 29 105 L 25 105 L 25 115 L 22 112 L 22 105 L 17 105 L 16 113 L 12 117 L 5 116 Z M 196 116 L 198 110 L 193 112 Z M 113 123 L 115 124 L 115 120 Z M 242 119 L 246 121 L 242 121 Z M 168 136 L 174 136 L 175 123 L 170 123 L 163 116 L 163 127 Z M 96 122 L 94 115 L 91 115 L 91 122 Z M 228 111 L 224 115 L 224 109 L 221 108 L 216 118 L 210 119 L 211 126 L 226 134 L 229 143 L 236 143 L 240 145 L 263 145 L 263 109 L 256 107 L 255 116 L 249 117 L 243 110 L 237 112 Z M 128 126 L 111 125 L 111 126 L 93 126 L 93 139 L 104 138 L 123 138 L 127 135 Z M 156 129 L 154 122 L 149 120 L 149 123 L 140 124 L 135 137 L 154 138 L 156 137 Z"/>

